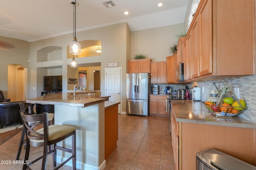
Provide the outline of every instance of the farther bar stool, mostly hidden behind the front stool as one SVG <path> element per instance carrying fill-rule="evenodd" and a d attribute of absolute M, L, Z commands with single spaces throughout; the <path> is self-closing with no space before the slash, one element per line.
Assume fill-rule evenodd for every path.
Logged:
<path fill-rule="evenodd" d="M 20 110 L 23 110 L 26 115 L 34 114 L 33 106 L 31 103 L 26 103 L 26 102 L 20 103 Z M 54 113 L 48 113 L 48 121 L 49 121 L 48 122 L 49 125 L 54 125 Z M 26 141 L 24 141 L 24 137 L 25 137 L 25 130 L 23 127 L 22 134 L 20 137 L 20 144 L 18 147 L 18 152 L 16 155 L 16 160 L 19 160 L 19 158 L 20 158 L 20 152 L 22 149 L 22 145 L 25 145 L 24 149 L 26 149 Z"/>

